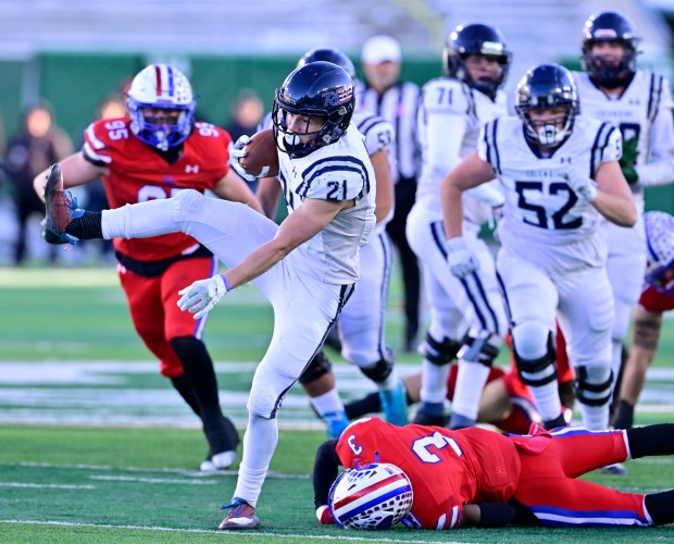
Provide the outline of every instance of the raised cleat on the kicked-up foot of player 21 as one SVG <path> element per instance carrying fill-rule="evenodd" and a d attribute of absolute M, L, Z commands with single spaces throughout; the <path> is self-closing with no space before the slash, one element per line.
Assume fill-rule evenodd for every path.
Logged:
<path fill-rule="evenodd" d="M 53 164 L 47 174 L 45 184 L 45 231 L 42 236 L 49 244 L 75 245 L 79 238 L 65 233 L 67 225 L 84 215 L 84 210 L 77 208 L 77 199 L 70 190 L 63 188 L 61 166 Z"/>

